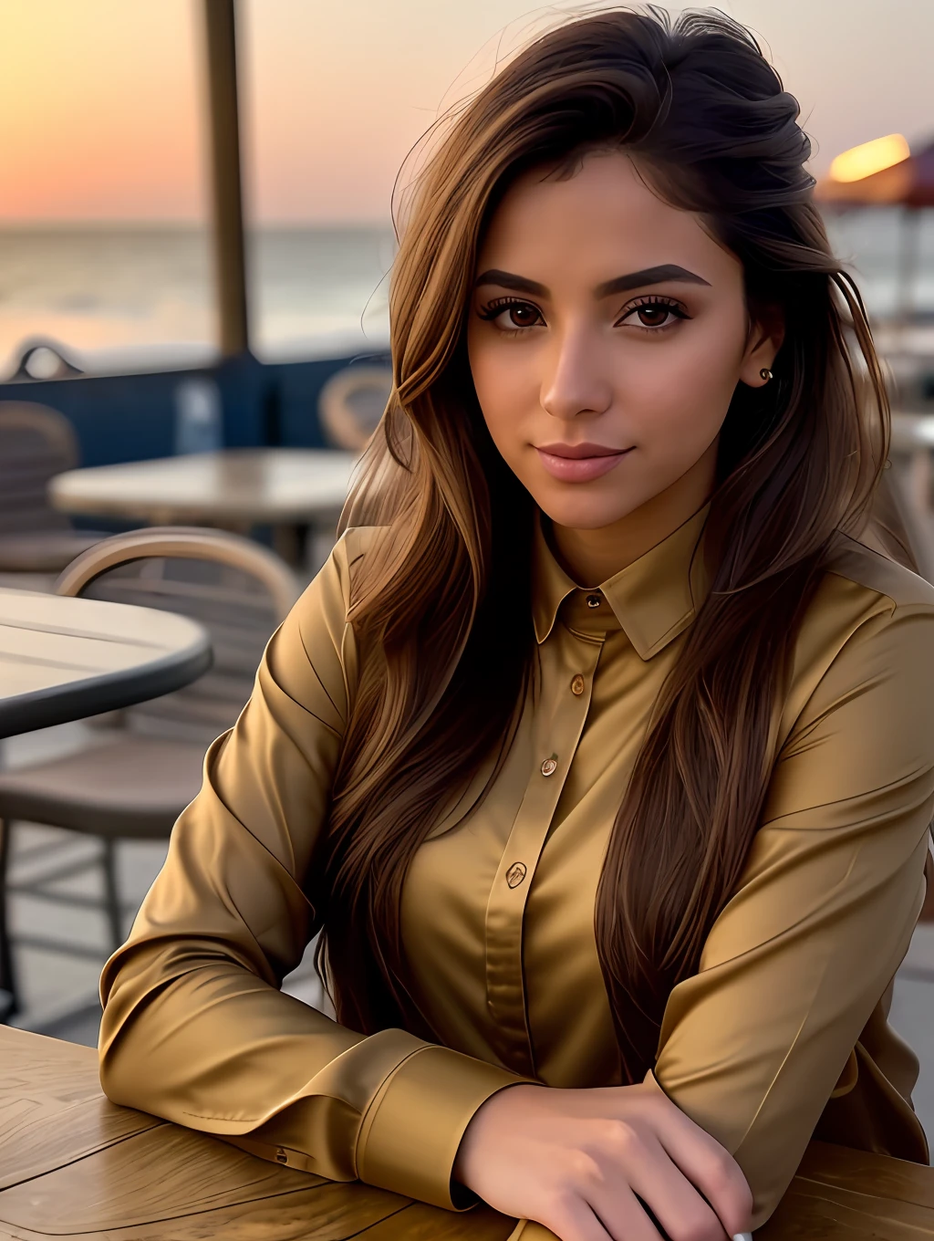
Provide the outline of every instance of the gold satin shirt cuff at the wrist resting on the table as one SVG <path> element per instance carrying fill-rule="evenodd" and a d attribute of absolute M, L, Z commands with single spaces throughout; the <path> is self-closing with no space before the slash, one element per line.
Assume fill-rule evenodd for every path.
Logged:
<path fill-rule="evenodd" d="M 389 1073 L 363 1116 L 357 1176 L 433 1206 L 471 1206 L 474 1195 L 451 1185 L 464 1131 L 491 1095 L 530 1081 L 449 1047 L 420 1047 Z"/>

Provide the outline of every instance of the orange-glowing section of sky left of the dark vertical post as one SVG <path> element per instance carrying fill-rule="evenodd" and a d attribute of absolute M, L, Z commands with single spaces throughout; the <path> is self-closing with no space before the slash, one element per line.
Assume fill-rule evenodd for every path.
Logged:
<path fill-rule="evenodd" d="M 205 212 L 190 0 L 1 0 L 0 217 Z"/>

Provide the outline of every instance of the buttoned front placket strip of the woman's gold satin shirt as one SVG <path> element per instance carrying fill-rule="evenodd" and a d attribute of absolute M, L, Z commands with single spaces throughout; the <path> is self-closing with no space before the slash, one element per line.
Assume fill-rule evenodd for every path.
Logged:
<path fill-rule="evenodd" d="M 497 1025 L 499 1054 L 510 1067 L 533 1073 L 522 973 L 522 918 L 554 810 L 590 706 L 593 673 L 603 637 L 580 638 L 561 629 L 542 652 L 542 696 L 537 709 L 536 766 L 512 824 L 486 908 L 486 999 Z M 569 665 L 569 666 L 568 666 Z M 579 695 L 568 694 L 572 675 L 587 674 Z M 583 692 L 585 690 L 585 692 Z"/>

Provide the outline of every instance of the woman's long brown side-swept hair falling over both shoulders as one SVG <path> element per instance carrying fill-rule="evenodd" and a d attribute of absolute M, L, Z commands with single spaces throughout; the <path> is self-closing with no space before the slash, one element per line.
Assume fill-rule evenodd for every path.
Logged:
<path fill-rule="evenodd" d="M 613 828 L 595 933 L 621 1080 L 655 1057 L 741 874 L 774 761 L 773 704 L 837 530 L 867 520 L 888 407 L 860 295 L 834 258 L 799 107 L 754 37 L 702 10 L 614 7 L 551 30 L 463 109 L 420 174 L 389 292 L 394 387 L 355 503 L 388 527 L 356 566 L 360 681 L 324 841 L 319 967 L 339 1019 L 430 1036 L 399 933 L 407 867 L 468 782 L 486 788 L 533 680 L 532 501 L 496 453 L 465 320 L 485 225 L 530 168 L 629 153 L 778 308 L 774 379 L 737 387 L 705 551 L 712 591 L 656 704 Z"/>

